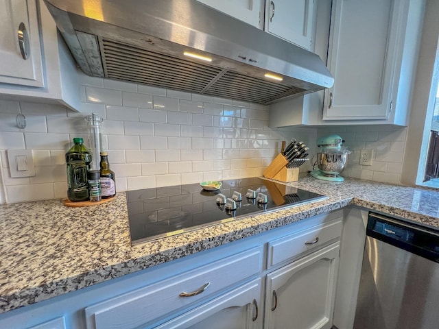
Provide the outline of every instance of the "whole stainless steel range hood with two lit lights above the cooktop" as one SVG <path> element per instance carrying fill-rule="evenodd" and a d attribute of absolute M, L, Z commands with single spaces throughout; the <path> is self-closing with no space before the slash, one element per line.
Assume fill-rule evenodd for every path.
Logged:
<path fill-rule="evenodd" d="M 315 53 L 195 0 L 45 3 L 82 71 L 95 77 L 264 104 L 333 84 Z"/>

